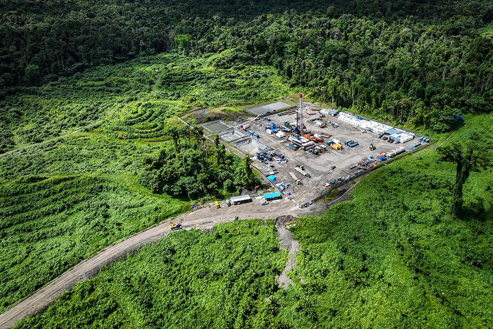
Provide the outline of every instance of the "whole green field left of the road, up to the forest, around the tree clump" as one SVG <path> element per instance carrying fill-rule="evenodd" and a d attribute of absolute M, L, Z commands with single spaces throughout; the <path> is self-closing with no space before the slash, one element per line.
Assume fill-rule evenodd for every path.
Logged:
<path fill-rule="evenodd" d="M 0 154 L 0 312 L 107 245 L 190 209 L 195 200 L 154 194 L 139 178 L 145 161 L 172 148 L 176 114 L 286 93 L 273 68 L 214 68 L 220 57 L 156 55 L 101 66 L 0 103 L 0 129 L 13 131 L 0 140 L 3 150 L 103 120 Z"/>

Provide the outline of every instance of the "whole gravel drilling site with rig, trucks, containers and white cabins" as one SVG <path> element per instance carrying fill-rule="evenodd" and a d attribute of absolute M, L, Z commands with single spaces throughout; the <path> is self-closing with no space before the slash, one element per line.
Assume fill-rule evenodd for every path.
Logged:
<path fill-rule="evenodd" d="M 221 122 L 221 127 L 236 129 L 219 135 L 249 154 L 253 166 L 284 198 L 298 205 L 398 154 L 430 143 L 425 136 L 387 123 L 303 103 L 301 97 L 297 109 L 267 110 L 243 123 Z"/>

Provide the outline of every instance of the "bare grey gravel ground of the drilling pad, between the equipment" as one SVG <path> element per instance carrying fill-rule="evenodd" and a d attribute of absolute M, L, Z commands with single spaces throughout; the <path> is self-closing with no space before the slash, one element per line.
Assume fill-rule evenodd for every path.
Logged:
<path fill-rule="evenodd" d="M 409 150 L 409 147 L 416 144 L 418 142 L 418 138 L 421 136 L 416 135 L 415 139 L 403 144 L 389 144 L 387 141 L 380 139 L 378 135 L 350 123 L 343 122 L 335 116 L 332 117 L 327 115 L 326 117 L 319 118 L 319 110 L 320 108 L 315 107 L 311 103 L 304 103 L 303 122 L 306 126 L 306 130 L 313 134 L 330 136 L 329 138 L 324 138 L 323 143 L 316 143 L 316 145 L 323 144 L 326 146 L 325 143 L 333 139 L 339 140 L 341 143 L 344 143 L 346 140 L 353 140 L 358 142 L 359 145 L 355 147 L 344 145 L 340 150 L 326 146 L 324 152 L 315 155 L 314 153 L 309 153 L 305 150 L 295 150 L 289 147 L 288 144 L 291 142 L 288 140 L 287 136 L 279 138 L 275 134 L 266 133 L 265 128 L 270 126 L 272 123 L 275 123 L 282 130 L 283 128 L 286 128 L 284 125 L 285 122 L 296 122 L 296 113 L 294 113 L 293 110 L 280 112 L 282 115 L 275 113 L 265 116 L 269 119 L 269 121 L 266 121 L 263 117 L 256 120 L 251 117 L 243 123 L 235 121 L 222 121 L 222 126 L 234 126 L 237 127 L 237 130 L 241 129 L 243 124 L 249 124 L 250 127 L 246 128 L 246 130 L 252 130 L 260 136 L 257 140 L 250 137 L 245 139 L 236 138 L 236 136 L 233 135 L 234 137 L 224 138 L 223 141 L 231 143 L 232 146 L 235 146 L 241 151 L 249 154 L 253 159 L 253 166 L 261 173 L 268 174 L 275 171 L 275 175 L 277 177 L 277 181 L 275 183 L 290 184 L 290 186 L 285 190 L 290 194 L 285 195 L 284 197 L 293 199 L 301 205 L 310 200 L 316 199 L 323 194 L 327 188 L 330 188 L 330 185 L 328 185 L 329 182 L 338 182 L 340 177 L 347 180 L 348 177 L 357 174 L 359 168 L 352 167 L 358 164 L 358 162 L 367 161 L 371 156 L 373 156 L 375 159 L 374 164 L 377 164 L 379 162 L 378 159 L 380 153 L 392 152 L 401 147 Z M 320 128 L 319 125 L 316 124 L 315 121 L 319 119 L 327 122 L 327 126 L 325 128 Z M 334 127 L 332 123 L 336 123 L 337 128 Z M 218 128 L 222 128 L 222 126 Z M 206 129 L 208 128 L 207 124 L 203 127 Z M 247 134 L 246 131 L 242 132 Z M 231 133 L 228 131 L 226 136 L 230 135 Z M 425 143 L 422 144 L 423 145 L 420 147 L 424 147 L 426 145 Z M 369 147 L 370 145 L 373 145 L 375 149 L 371 150 Z M 263 162 L 256 159 L 257 152 L 265 152 L 266 149 L 270 150 L 271 148 L 274 152 L 282 153 L 288 159 L 288 162 L 276 163 L 275 160 Z M 270 165 L 271 163 L 272 166 Z M 295 170 L 295 167 L 299 165 L 303 165 L 305 167 L 305 171 L 312 177 L 304 177 L 298 173 Z M 332 166 L 335 166 L 335 168 L 331 169 Z M 301 180 L 301 185 L 297 185 L 295 183 L 295 180 L 289 174 L 290 172 L 294 173 L 296 178 Z"/>

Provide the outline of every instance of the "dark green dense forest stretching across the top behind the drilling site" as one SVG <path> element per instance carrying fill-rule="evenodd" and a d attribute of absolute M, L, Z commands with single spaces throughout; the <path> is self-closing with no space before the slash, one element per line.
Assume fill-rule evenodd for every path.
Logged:
<path fill-rule="evenodd" d="M 480 0 L 8 1 L 0 85 L 14 93 L 141 55 L 228 51 L 216 67 L 273 65 L 315 100 L 446 131 L 458 114 L 493 109 L 492 18 Z"/>

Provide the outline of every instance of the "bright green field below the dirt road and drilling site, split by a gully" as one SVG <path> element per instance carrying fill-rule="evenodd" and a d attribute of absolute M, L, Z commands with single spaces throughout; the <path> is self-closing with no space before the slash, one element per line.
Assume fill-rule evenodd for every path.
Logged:
<path fill-rule="evenodd" d="M 487 146 L 492 126 L 469 117 L 446 143 L 478 134 Z M 235 221 L 146 246 L 16 328 L 491 328 L 493 171 L 471 174 L 460 219 L 454 177 L 425 151 L 301 218 L 285 291 L 272 222 Z"/>

